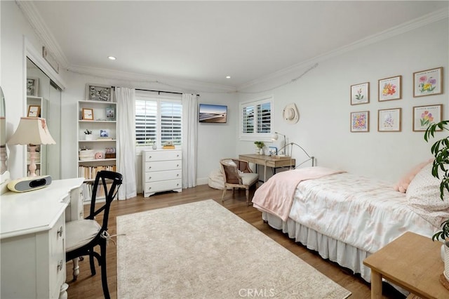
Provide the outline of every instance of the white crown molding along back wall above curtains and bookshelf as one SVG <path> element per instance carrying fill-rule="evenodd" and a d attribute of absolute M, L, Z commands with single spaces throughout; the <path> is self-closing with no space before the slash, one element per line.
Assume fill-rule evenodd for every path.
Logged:
<path fill-rule="evenodd" d="M 132 83 L 142 82 L 145 84 L 161 84 L 176 91 L 196 92 L 196 93 L 235 93 L 235 86 L 210 84 L 200 81 L 192 81 L 187 79 L 160 77 L 148 74 L 138 74 L 131 72 L 121 72 L 111 69 L 102 69 L 96 67 L 85 67 L 81 65 L 72 65 L 67 69 L 68 72 L 76 74 L 85 74 L 93 77 L 132 81 Z"/>

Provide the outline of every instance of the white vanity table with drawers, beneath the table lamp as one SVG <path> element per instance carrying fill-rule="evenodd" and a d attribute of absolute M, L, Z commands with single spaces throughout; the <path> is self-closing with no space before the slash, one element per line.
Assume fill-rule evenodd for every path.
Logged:
<path fill-rule="evenodd" d="M 83 217 L 83 180 L 1 194 L 1 298 L 67 298 L 65 221 Z"/>

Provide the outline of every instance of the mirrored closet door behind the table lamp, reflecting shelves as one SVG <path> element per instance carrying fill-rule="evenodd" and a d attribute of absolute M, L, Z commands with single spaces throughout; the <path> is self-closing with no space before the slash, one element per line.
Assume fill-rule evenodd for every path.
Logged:
<path fill-rule="evenodd" d="M 31 107 L 31 108 L 30 108 Z M 27 117 L 37 113 L 46 119 L 55 145 L 40 145 L 37 175 L 61 178 L 61 90 L 32 60 L 27 58 Z M 28 154 L 28 152 L 27 152 Z M 28 157 L 27 157 L 28 160 Z M 27 162 L 27 171 L 28 171 Z"/>

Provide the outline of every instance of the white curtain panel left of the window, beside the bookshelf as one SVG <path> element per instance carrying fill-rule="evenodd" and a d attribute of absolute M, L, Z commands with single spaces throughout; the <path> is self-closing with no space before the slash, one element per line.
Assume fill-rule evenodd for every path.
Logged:
<path fill-rule="evenodd" d="M 116 87 L 117 100 L 117 172 L 123 175 L 118 199 L 137 196 L 135 180 L 135 90 Z"/>

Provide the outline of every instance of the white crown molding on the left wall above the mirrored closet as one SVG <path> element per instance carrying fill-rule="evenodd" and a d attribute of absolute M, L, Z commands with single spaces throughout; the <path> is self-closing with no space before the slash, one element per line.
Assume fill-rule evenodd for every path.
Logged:
<path fill-rule="evenodd" d="M 56 41 L 55 36 L 51 34 L 51 31 L 48 29 L 47 25 L 43 21 L 41 15 L 37 11 L 36 6 L 34 6 L 33 1 L 21 1 L 15 0 L 15 3 L 22 11 L 25 18 L 28 20 L 29 25 L 34 29 L 43 46 L 46 46 L 47 50 L 53 54 L 55 60 L 60 63 L 60 66 L 63 68 L 67 68 L 69 66 L 69 60 L 62 52 L 58 41 Z"/>

